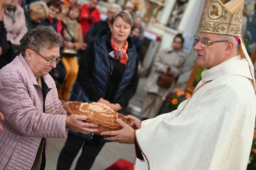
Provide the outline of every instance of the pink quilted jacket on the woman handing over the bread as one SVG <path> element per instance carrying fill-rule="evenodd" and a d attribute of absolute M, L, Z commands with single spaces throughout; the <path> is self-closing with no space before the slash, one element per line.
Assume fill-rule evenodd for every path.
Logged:
<path fill-rule="evenodd" d="M 0 70 L 0 169 L 30 170 L 40 141 L 46 138 L 45 154 L 52 137 L 66 138 L 66 111 L 58 99 L 52 77 L 43 76 L 51 89 L 45 99 L 22 55 Z"/>

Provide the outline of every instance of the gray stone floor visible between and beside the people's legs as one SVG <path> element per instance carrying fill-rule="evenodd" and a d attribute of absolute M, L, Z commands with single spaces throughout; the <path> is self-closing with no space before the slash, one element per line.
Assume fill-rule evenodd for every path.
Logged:
<path fill-rule="evenodd" d="M 140 111 L 143 105 L 143 101 L 146 92 L 143 90 L 145 86 L 146 78 L 140 78 L 139 85 L 136 94 L 130 100 L 126 115 L 131 114 L 140 118 Z M 65 101 L 62 101 L 65 102 Z M 66 139 L 53 138 L 49 146 L 49 151 L 46 157 L 46 170 L 55 170 L 57 166 L 57 160 L 59 153 L 65 144 Z M 81 151 L 77 154 L 71 170 L 74 170 L 76 161 L 81 154 Z M 115 163 L 119 158 L 123 158 L 133 163 L 135 159 L 135 149 L 134 145 L 120 144 L 116 142 L 108 142 L 105 144 L 99 155 L 97 156 L 95 163 L 91 170 L 104 170 L 113 163 Z"/>

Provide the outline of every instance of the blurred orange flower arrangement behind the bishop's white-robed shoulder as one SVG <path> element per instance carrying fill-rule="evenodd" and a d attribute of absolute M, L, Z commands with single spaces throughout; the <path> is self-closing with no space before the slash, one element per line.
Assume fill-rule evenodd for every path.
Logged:
<path fill-rule="evenodd" d="M 179 104 L 188 99 L 190 96 L 190 92 L 174 89 L 174 92 L 169 92 L 169 94 L 164 98 L 164 101 L 168 103 L 170 108 L 176 110 Z"/>

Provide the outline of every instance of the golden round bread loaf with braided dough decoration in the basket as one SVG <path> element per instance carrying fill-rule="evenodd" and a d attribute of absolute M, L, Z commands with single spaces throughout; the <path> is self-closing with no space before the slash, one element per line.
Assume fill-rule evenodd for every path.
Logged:
<path fill-rule="evenodd" d="M 118 119 L 118 114 L 110 106 L 100 102 L 81 103 L 75 111 L 87 117 L 111 123 L 117 123 L 116 119 Z"/>

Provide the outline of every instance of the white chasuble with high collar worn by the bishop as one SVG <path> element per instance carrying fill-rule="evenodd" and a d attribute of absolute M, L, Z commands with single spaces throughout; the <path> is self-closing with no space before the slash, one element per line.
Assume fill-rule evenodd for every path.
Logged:
<path fill-rule="evenodd" d="M 240 55 L 205 69 L 202 82 L 209 82 L 189 101 L 135 131 L 144 157 L 136 159 L 135 169 L 245 170 L 256 114 L 249 79 L 248 62 Z"/>

